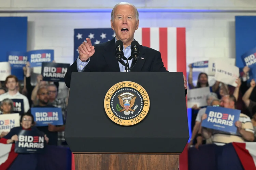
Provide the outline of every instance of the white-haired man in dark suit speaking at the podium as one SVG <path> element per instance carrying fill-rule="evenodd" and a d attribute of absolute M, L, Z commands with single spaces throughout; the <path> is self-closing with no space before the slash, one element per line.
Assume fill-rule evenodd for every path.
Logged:
<path fill-rule="evenodd" d="M 111 28 L 116 36 L 109 42 L 92 45 L 90 38 L 78 48 L 79 57 L 68 68 L 65 83 L 70 87 L 72 72 L 125 72 L 125 66 L 120 64 L 115 57 L 115 42 L 121 40 L 124 44 L 124 56 L 130 57 L 131 42 L 134 41 L 134 32 L 139 28 L 139 13 L 130 3 L 122 2 L 114 6 L 111 12 Z M 152 48 L 139 45 L 140 56 L 131 72 L 167 72 L 163 66 L 161 54 Z M 122 59 L 123 60 L 123 59 Z M 132 60 L 129 60 L 131 66 Z M 185 95 L 187 94 L 184 78 Z"/>

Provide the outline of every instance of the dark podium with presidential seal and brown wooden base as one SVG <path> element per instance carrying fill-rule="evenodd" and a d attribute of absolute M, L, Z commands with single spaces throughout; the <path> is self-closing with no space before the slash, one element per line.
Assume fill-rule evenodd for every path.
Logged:
<path fill-rule="evenodd" d="M 130 117 L 120 111 L 113 114 L 112 120 L 107 114 L 105 101 L 110 89 L 114 91 L 109 93 L 111 97 L 122 90 L 140 97 L 139 89 L 113 88 L 121 82 L 137 83 L 147 92 L 150 106 L 144 119 L 130 117 L 141 115 L 145 97 L 141 100 L 142 110 L 135 110 Z M 109 99 L 112 110 L 117 109 L 117 97 Z M 138 101 L 135 104 L 140 105 Z M 119 121 L 118 116 L 124 120 Z M 115 122 L 136 119 L 139 123 L 131 126 Z M 72 73 L 65 139 L 75 154 L 76 170 L 178 170 L 179 154 L 188 138 L 183 73 Z"/>

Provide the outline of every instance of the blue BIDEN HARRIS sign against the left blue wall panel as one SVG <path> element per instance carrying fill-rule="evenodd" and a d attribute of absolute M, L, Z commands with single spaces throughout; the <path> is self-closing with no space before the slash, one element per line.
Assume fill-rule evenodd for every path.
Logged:
<path fill-rule="evenodd" d="M 28 61 L 27 52 L 10 51 L 7 52 L 7 59 L 12 68 L 12 75 L 15 75 L 18 80 L 24 80 L 23 67 Z"/>

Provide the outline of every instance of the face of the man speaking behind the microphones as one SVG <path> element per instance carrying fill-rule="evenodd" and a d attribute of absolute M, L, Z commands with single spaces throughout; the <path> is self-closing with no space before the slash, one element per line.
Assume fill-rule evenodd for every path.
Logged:
<path fill-rule="evenodd" d="M 119 5 L 114 11 L 114 20 L 111 20 L 111 28 L 116 33 L 116 39 L 126 44 L 133 40 L 135 30 L 139 27 L 136 19 L 136 10 L 131 5 Z"/>

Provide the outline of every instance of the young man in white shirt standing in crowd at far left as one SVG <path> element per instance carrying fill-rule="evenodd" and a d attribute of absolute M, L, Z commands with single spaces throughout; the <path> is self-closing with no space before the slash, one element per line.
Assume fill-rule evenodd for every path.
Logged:
<path fill-rule="evenodd" d="M 23 94 L 18 92 L 18 78 L 14 75 L 10 75 L 5 79 L 5 86 L 8 89 L 8 92 L 0 95 L 0 102 L 5 98 L 9 99 L 23 99 L 24 112 L 26 113 L 29 110 L 28 98 Z"/>

